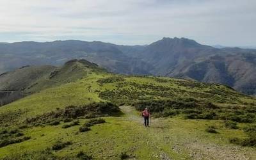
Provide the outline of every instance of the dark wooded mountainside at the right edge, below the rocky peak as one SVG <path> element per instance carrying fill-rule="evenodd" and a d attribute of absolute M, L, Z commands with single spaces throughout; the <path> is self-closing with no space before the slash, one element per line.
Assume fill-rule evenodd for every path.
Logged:
<path fill-rule="evenodd" d="M 207 60 L 177 65 L 167 75 L 226 84 L 240 92 L 255 95 L 255 68 L 256 54 L 216 55 Z"/>

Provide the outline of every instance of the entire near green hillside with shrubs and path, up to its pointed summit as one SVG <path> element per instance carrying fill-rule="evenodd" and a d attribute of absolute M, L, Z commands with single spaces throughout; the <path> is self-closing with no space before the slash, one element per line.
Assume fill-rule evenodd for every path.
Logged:
<path fill-rule="evenodd" d="M 37 93 L 0 108 L 0 159 L 256 158 L 248 131 L 256 99 L 227 86 L 111 74 L 76 60 L 27 90 Z"/>

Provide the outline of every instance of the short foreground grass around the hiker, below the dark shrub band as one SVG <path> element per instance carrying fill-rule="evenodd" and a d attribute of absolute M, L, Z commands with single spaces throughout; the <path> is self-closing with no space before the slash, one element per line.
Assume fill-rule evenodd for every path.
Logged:
<path fill-rule="evenodd" d="M 246 134 L 240 130 L 227 130 L 222 121 L 216 120 L 184 120 L 180 117 L 158 118 L 147 130 L 141 122 L 129 120 L 129 116 L 139 116 L 137 112 L 131 115 L 125 114 L 122 117 L 106 117 L 107 123 L 92 126 L 92 131 L 77 134 L 81 125 L 76 125 L 68 129 L 62 129 L 60 125 L 45 127 L 33 127 L 26 129 L 25 134 L 31 136 L 31 140 L 24 143 L 17 143 L 4 148 L 0 148 L 0 158 L 9 155 L 10 152 L 17 152 L 15 148 L 26 150 L 45 150 L 58 140 L 72 141 L 72 145 L 61 149 L 56 156 L 76 156 L 76 153 L 83 150 L 95 159 L 119 159 L 120 154 L 125 152 L 138 159 L 157 159 L 154 155 L 162 152 L 173 159 L 189 158 L 187 144 L 209 145 L 218 144 L 224 148 L 229 145 L 230 138 L 244 138 Z M 81 124 L 90 120 L 81 119 Z M 205 132 L 205 127 L 209 125 L 217 126 L 219 134 L 209 134 Z M 45 136 L 41 136 L 45 134 Z M 197 141 L 196 143 L 194 141 Z M 173 152 L 170 148 L 179 145 L 182 154 Z M 157 148 L 156 148 L 157 147 Z M 195 150 L 198 148 L 194 148 Z M 102 152 L 104 150 L 104 152 Z M 200 150 L 204 152 L 204 150 Z"/>

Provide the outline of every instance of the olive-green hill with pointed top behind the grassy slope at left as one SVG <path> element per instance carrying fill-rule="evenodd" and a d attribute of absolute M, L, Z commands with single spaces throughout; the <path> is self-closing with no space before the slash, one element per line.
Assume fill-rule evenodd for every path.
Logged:
<path fill-rule="evenodd" d="M 106 72 L 86 60 L 70 60 L 61 67 L 22 67 L 0 76 L 0 91 L 39 92 L 51 86 L 60 86 L 86 77 L 90 72 Z"/>

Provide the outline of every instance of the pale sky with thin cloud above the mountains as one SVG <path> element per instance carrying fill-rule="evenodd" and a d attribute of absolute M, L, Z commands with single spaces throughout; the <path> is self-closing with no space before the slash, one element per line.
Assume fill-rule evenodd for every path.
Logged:
<path fill-rule="evenodd" d="M 255 0 L 0 0 L 0 13 L 0 42 L 144 45 L 176 36 L 256 46 Z"/>

